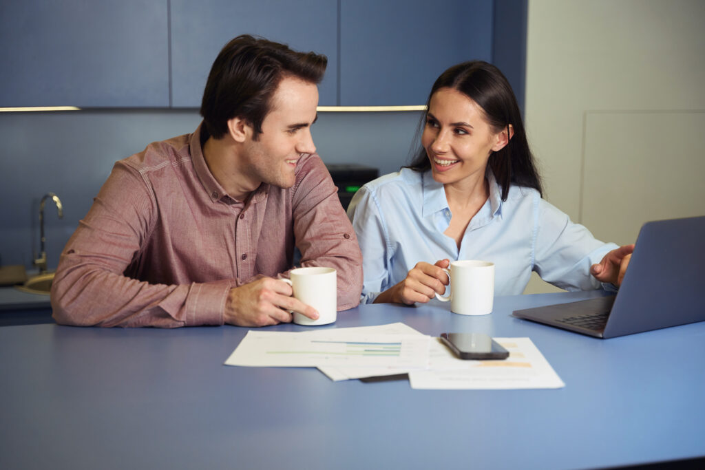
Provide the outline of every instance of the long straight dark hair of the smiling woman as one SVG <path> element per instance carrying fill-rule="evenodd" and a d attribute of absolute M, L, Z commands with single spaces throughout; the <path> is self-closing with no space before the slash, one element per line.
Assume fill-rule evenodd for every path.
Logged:
<path fill-rule="evenodd" d="M 431 88 L 431 97 L 441 88 L 452 88 L 465 94 L 480 106 L 489 124 L 495 132 L 500 132 L 512 125 L 514 136 L 499 151 L 492 152 L 487 167 L 494 173 L 497 183 L 502 187 L 502 200 L 506 201 L 510 185 L 533 187 L 542 193 L 541 178 L 534 163 L 534 156 L 529 149 L 522 115 L 512 87 L 491 63 L 471 61 L 459 63 L 443 72 Z M 426 116 L 423 116 L 422 126 Z M 431 162 L 423 147 L 415 154 L 407 168 L 415 171 L 427 171 Z"/>

